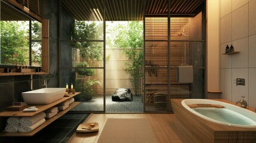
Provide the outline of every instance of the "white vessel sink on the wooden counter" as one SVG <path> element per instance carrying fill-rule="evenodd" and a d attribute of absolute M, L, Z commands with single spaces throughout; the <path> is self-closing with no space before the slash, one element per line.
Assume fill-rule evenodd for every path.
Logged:
<path fill-rule="evenodd" d="M 66 88 L 41 88 L 21 94 L 27 104 L 50 104 L 63 98 L 65 92 Z"/>

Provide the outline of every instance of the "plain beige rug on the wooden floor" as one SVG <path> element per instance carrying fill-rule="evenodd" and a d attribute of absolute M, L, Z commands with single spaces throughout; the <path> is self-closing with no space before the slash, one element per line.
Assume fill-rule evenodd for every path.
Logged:
<path fill-rule="evenodd" d="M 159 142 L 149 119 L 107 119 L 98 143 Z"/>

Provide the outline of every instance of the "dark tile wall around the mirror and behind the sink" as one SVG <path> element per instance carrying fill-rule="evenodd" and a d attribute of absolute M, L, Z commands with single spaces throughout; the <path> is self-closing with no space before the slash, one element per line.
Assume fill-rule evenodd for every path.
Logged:
<path fill-rule="evenodd" d="M 60 37 L 58 34 L 58 21 L 60 18 L 59 4 L 60 1 L 58 0 L 44 0 L 44 18 L 50 20 L 50 74 L 33 76 L 0 76 L 0 111 L 4 111 L 5 108 L 12 105 L 14 101 L 23 101 L 21 92 L 30 91 L 32 89 L 35 90 L 39 88 L 45 88 L 44 80 L 47 80 L 47 88 L 64 87 L 66 83 L 69 83 L 69 70 L 67 70 L 64 74 L 65 81 L 60 83 L 60 48 L 58 48 L 60 44 L 58 42 L 58 38 Z M 70 26 L 72 25 L 71 23 L 73 18 L 68 13 L 66 13 L 63 8 L 61 8 L 61 13 L 64 15 L 62 16 L 64 20 L 62 28 L 63 30 L 66 29 L 64 36 L 66 36 L 66 38 L 70 38 Z M 70 48 L 65 49 L 64 57 L 61 58 L 61 60 L 64 60 L 63 63 L 68 63 L 67 66 L 71 64 L 70 51 Z"/>

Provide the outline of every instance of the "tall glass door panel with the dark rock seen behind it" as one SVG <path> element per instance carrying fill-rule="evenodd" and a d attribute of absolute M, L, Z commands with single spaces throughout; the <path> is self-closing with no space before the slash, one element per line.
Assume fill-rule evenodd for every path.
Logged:
<path fill-rule="evenodd" d="M 141 113 L 143 0 L 106 3 L 106 112 Z"/>

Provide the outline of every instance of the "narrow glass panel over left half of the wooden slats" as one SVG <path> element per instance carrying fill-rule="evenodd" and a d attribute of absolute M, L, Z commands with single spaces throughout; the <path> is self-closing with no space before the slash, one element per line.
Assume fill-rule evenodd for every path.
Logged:
<path fill-rule="evenodd" d="M 166 111 L 168 105 L 168 18 L 144 19 L 144 110 Z"/>

